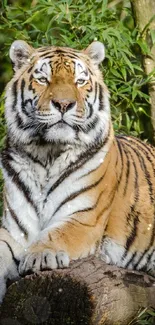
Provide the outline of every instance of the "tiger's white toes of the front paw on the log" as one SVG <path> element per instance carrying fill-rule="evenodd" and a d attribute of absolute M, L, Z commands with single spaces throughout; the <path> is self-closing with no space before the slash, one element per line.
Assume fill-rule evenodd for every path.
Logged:
<path fill-rule="evenodd" d="M 29 253 L 22 257 L 19 264 L 19 274 L 34 273 L 36 271 L 53 270 L 69 266 L 69 256 L 64 251 L 56 254 L 49 249 L 44 252 Z"/>

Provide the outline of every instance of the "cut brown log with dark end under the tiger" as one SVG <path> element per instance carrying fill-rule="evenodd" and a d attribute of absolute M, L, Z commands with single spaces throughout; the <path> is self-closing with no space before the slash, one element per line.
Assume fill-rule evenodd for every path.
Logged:
<path fill-rule="evenodd" d="M 89 257 L 64 270 L 13 283 L 1 325 L 126 325 L 141 307 L 155 308 L 155 279 Z"/>

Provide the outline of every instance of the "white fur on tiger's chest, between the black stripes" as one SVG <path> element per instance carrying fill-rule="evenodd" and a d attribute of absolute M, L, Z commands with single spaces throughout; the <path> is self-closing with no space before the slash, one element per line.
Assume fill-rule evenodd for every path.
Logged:
<path fill-rule="evenodd" d="M 92 155 L 92 158 L 84 166 L 75 168 L 75 171 L 69 175 L 66 174 L 67 176 L 62 177 L 62 179 L 61 176 L 67 173 L 69 166 L 78 159 L 79 151 L 66 150 L 57 158 L 47 161 L 45 166 L 35 160 L 33 161 L 28 156 L 14 154 L 12 167 L 27 187 L 35 208 L 6 175 L 9 201 L 16 214 L 20 216 L 21 223 L 29 230 L 27 242 L 14 221 L 11 221 L 7 227 L 10 228 L 12 236 L 20 244 L 27 246 L 39 237 L 41 231 L 57 222 L 67 221 L 76 211 L 90 207 L 92 200 L 87 194 L 83 194 L 82 197 L 75 195 L 73 199 L 69 200 L 68 198 L 89 185 L 88 178 L 85 175 L 103 162 L 107 151 L 108 148 L 106 150 L 104 147 L 104 150 L 100 150 L 94 156 Z M 53 190 L 51 191 L 52 187 Z"/>

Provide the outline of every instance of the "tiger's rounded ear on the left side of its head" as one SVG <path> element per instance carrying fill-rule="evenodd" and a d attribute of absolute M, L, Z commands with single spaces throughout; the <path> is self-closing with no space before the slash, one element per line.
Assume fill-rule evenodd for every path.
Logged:
<path fill-rule="evenodd" d="M 28 61 L 33 51 L 34 49 L 25 41 L 18 40 L 12 43 L 9 55 L 15 71 L 20 69 Z"/>

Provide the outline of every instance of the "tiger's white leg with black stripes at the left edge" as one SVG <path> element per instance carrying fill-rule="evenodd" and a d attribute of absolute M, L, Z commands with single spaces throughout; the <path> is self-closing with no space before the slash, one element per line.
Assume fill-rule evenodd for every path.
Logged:
<path fill-rule="evenodd" d="M 0 303 L 6 292 L 7 279 L 18 279 L 19 256 L 23 248 L 11 237 L 9 232 L 0 229 Z"/>

